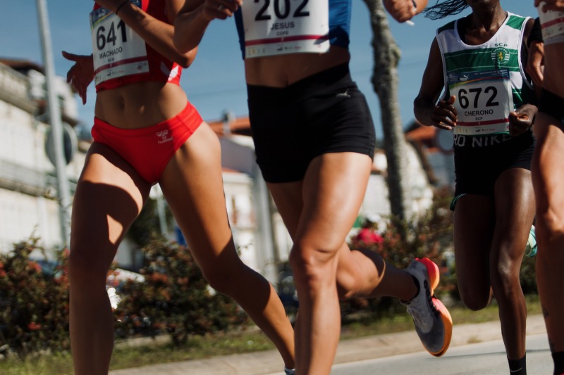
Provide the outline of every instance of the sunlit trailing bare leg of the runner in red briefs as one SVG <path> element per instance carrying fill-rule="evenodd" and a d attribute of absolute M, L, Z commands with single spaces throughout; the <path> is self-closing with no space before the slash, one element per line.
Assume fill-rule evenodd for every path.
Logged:
<path fill-rule="evenodd" d="M 293 328 L 281 300 L 235 250 L 223 194 L 221 148 L 207 124 L 177 151 L 160 184 L 209 284 L 237 301 L 274 342 L 286 367 L 293 368 Z"/>

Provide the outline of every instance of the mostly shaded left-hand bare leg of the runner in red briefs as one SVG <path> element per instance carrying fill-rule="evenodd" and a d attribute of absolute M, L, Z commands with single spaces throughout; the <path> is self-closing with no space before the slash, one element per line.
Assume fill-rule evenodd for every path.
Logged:
<path fill-rule="evenodd" d="M 71 348 L 77 375 L 108 374 L 114 318 L 106 274 L 149 189 L 110 148 L 90 146 L 73 202 L 68 260 Z"/>

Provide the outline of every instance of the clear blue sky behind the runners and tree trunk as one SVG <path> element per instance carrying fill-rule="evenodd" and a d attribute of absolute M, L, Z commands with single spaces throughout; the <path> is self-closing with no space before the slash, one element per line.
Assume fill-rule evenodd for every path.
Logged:
<path fill-rule="evenodd" d="M 88 23 L 92 1 L 46 1 L 55 72 L 64 77 L 71 63 L 61 56 L 61 50 L 82 54 L 92 53 Z M 434 2 L 435 0 L 429 0 L 429 4 Z M 533 0 L 501 0 L 501 4 L 506 11 L 520 15 L 537 14 Z M 400 24 L 389 18 L 392 34 L 402 51 L 399 64 L 399 101 L 404 125 L 412 122 L 414 118 L 412 102 L 419 91 L 434 31 L 449 20 L 468 13 L 470 13 L 469 8 L 453 18 L 434 21 L 417 15 L 413 19 L 414 26 Z M 373 68 L 372 30 L 367 6 L 362 0 L 353 0 L 351 23 L 350 70 L 353 80 L 367 96 L 376 126 L 376 136 L 380 139 L 382 132 L 379 100 L 370 82 Z M 4 4 L 0 12 L 0 57 L 23 58 L 42 64 L 37 26 L 37 1 L 16 0 Z M 195 62 L 184 70 L 181 84 L 204 120 L 219 119 L 224 110 L 236 116 L 247 115 L 243 61 L 233 19 L 212 22 L 200 44 Z M 94 95 L 91 84 L 86 105 L 79 104 L 80 120 L 86 125 L 91 125 L 94 117 Z"/>

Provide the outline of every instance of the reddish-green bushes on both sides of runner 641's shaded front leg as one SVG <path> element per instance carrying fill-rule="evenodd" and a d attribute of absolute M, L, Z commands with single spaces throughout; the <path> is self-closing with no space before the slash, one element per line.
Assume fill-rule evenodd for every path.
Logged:
<path fill-rule="evenodd" d="M 32 253 L 44 258 L 38 241 L 32 238 L 0 253 L 0 357 L 70 350 L 68 251 L 59 252 L 52 262 L 35 261 Z M 230 298 L 209 288 L 187 248 L 153 240 L 143 250 L 145 282 L 118 286 L 118 336 L 168 333 L 180 345 L 191 334 L 248 322 Z"/>

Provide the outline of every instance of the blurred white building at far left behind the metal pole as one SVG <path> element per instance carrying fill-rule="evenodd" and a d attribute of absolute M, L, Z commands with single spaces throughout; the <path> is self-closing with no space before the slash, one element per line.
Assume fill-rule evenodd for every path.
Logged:
<path fill-rule="evenodd" d="M 42 67 L 29 61 L 0 60 L 0 251 L 38 236 L 47 250 L 61 248 L 55 167 L 46 152 L 47 106 Z M 84 150 L 73 150 L 78 110 L 73 92 L 56 77 L 62 120 L 71 129 L 66 166 L 71 193 L 84 163 Z M 80 148 L 80 147 L 78 147 Z M 68 208 L 70 210 L 70 208 Z"/>

